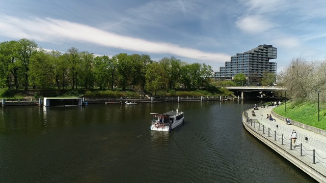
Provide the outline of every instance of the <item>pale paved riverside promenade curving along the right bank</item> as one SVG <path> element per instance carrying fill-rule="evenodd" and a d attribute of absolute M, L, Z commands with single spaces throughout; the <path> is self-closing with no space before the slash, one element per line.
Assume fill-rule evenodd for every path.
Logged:
<path fill-rule="evenodd" d="M 243 116 L 243 125 L 254 136 L 273 148 L 284 158 L 319 182 L 326 182 L 326 136 L 294 126 L 286 125 L 286 121 L 266 119 L 274 106 L 268 108 L 247 108 Z M 291 143 L 291 133 L 295 130 L 297 139 Z"/>

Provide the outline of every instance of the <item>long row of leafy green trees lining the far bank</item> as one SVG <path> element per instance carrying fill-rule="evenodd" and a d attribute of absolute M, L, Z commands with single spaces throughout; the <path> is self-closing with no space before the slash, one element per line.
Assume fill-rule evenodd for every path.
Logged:
<path fill-rule="evenodd" d="M 65 53 L 47 51 L 32 40 L 0 43 L 0 87 L 85 88 L 116 87 L 157 90 L 198 89 L 212 85 L 211 66 L 188 64 L 175 57 L 153 61 L 146 54 L 95 56 L 75 47 Z"/>

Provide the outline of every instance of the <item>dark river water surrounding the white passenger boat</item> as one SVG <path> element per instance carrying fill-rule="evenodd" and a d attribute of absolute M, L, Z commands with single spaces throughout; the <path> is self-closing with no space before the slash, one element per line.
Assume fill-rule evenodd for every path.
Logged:
<path fill-rule="evenodd" d="M 250 135 L 250 101 L 14 106 L 0 113 L 0 182 L 315 182 Z M 171 132 L 149 113 L 184 112 Z"/>

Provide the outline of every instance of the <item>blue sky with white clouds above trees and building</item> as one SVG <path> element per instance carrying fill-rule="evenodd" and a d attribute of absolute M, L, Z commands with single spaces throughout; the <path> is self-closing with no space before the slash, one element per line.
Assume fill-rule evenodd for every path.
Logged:
<path fill-rule="evenodd" d="M 0 42 L 47 50 L 174 56 L 219 71 L 236 53 L 277 47 L 277 71 L 294 58 L 324 60 L 324 0 L 0 0 Z"/>

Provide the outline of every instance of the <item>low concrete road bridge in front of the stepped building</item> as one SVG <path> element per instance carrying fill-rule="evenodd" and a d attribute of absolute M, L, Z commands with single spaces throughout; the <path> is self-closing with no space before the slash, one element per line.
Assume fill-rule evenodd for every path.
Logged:
<path fill-rule="evenodd" d="M 275 86 L 226 86 L 225 88 L 234 92 L 234 95 L 241 99 L 268 98 L 273 100 L 273 98 L 277 98 L 275 93 L 286 90 L 285 87 Z"/>

